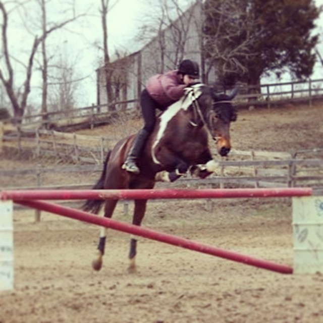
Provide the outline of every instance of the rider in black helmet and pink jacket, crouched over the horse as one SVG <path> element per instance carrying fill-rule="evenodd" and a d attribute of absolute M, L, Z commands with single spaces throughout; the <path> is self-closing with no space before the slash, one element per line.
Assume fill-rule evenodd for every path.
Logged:
<path fill-rule="evenodd" d="M 156 121 L 155 110 L 166 110 L 184 95 L 185 87 L 194 83 L 195 79 L 198 78 L 198 64 L 191 60 L 184 60 L 180 63 L 178 70 L 157 74 L 148 79 L 146 88 L 140 95 L 144 127 L 135 138 L 127 159 L 122 165 L 123 169 L 135 174 L 140 173 L 136 160 L 154 128 Z"/>

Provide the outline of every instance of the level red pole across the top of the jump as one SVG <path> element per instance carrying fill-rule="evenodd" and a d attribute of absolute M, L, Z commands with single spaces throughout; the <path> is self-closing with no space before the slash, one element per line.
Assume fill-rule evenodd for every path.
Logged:
<path fill-rule="evenodd" d="M 15 190 L 0 192 L 0 200 L 237 198 L 306 195 L 312 195 L 311 188 Z"/>

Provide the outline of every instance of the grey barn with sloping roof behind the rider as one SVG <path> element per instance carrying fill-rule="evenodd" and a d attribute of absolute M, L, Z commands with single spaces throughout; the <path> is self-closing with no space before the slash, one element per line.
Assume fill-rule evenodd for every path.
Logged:
<path fill-rule="evenodd" d="M 109 65 L 112 73 L 114 101 L 137 100 L 147 79 L 157 73 L 176 69 L 179 62 L 189 58 L 199 63 L 201 77 L 204 73 L 201 57 L 202 1 L 197 0 L 176 21 L 160 30 L 139 51 L 118 59 Z M 104 67 L 97 69 L 97 104 L 107 103 Z M 111 103 L 111 102 L 110 102 Z M 133 102 L 119 104 L 117 110 L 133 107 Z"/>

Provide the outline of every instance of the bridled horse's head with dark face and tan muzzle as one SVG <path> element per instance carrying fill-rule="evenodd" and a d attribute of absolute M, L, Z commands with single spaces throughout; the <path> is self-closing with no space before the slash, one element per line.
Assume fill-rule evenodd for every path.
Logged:
<path fill-rule="evenodd" d="M 232 106 L 231 100 L 237 94 L 237 89 L 229 95 L 216 93 L 208 86 L 201 87 L 201 95 L 198 98 L 200 111 L 212 139 L 216 142 L 218 152 L 226 156 L 230 149 L 230 123 L 236 121 L 237 112 Z"/>

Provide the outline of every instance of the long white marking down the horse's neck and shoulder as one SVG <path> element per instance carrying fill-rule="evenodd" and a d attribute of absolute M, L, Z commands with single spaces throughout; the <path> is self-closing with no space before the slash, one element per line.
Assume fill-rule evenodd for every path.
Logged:
<path fill-rule="evenodd" d="M 177 115 L 180 110 L 187 110 L 190 105 L 202 94 L 201 86 L 203 84 L 196 84 L 192 87 L 186 88 L 186 93 L 181 99 L 173 103 L 168 109 L 160 115 L 159 129 L 155 138 L 155 141 L 151 147 L 151 156 L 155 164 L 160 164 L 155 155 L 155 148 L 158 145 L 161 138 L 164 136 L 164 132 L 168 123 Z"/>

